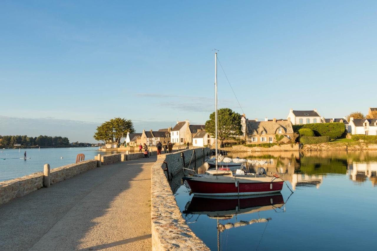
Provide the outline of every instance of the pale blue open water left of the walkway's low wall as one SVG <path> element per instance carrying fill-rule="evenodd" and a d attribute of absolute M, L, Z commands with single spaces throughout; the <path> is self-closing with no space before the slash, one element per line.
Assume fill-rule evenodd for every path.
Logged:
<path fill-rule="evenodd" d="M 25 151 L 27 157 L 30 158 L 26 161 L 23 159 Z M 98 147 L 21 149 L 20 152 L 18 149 L 0 149 L 0 181 L 43 171 L 44 164 L 50 164 L 51 168 L 56 168 L 75 163 L 78 153 L 83 153 L 86 160 L 94 159 L 98 153 L 104 154 L 98 151 Z"/>

